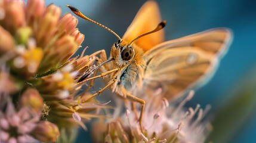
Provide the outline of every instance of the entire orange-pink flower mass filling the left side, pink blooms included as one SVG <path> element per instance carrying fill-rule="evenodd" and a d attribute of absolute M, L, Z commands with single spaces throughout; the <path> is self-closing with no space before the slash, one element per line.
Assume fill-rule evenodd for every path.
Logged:
<path fill-rule="evenodd" d="M 104 105 L 81 100 L 95 55 L 72 57 L 84 41 L 78 20 L 44 0 L 0 0 L 0 142 L 57 141 Z M 84 49 L 85 51 L 85 49 Z"/>

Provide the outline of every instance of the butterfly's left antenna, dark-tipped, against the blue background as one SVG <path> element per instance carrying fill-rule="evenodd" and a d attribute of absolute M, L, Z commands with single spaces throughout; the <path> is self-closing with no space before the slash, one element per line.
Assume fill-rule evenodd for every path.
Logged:
<path fill-rule="evenodd" d="M 84 14 L 81 13 L 81 11 L 79 11 L 77 8 L 73 7 L 73 6 L 70 6 L 70 5 L 66 5 L 66 7 L 68 7 L 72 13 L 78 15 L 79 17 L 85 19 L 85 20 L 88 20 L 94 24 L 97 24 L 98 26 L 100 27 L 103 27 L 104 29 L 108 30 L 109 32 L 113 33 L 113 35 L 115 35 L 119 40 L 121 40 L 121 38 L 115 33 L 113 32 L 113 30 L 109 29 L 108 27 L 104 26 L 103 24 L 100 24 L 100 23 L 97 23 L 96 21 L 94 20 L 91 20 L 90 18 L 86 17 Z"/>

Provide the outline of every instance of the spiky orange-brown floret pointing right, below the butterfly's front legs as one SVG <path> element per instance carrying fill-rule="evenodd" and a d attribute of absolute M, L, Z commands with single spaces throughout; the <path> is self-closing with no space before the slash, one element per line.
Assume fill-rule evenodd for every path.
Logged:
<path fill-rule="evenodd" d="M 91 94 L 84 95 L 82 98 L 66 98 L 61 101 L 50 101 L 48 105 L 51 107 L 49 117 L 50 122 L 55 123 L 60 128 L 77 128 L 80 125 L 84 130 L 87 130 L 84 121 L 91 118 L 106 118 L 107 116 L 98 115 L 101 108 L 112 108 L 106 104 L 100 104 L 94 98 L 91 100 L 79 103 L 79 100 L 90 97 Z"/>

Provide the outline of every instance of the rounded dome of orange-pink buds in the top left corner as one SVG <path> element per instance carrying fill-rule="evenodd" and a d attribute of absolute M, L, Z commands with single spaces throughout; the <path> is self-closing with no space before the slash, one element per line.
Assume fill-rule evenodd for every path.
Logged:
<path fill-rule="evenodd" d="M 42 0 L 3 1 L 0 19 L 0 55 L 8 54 L 11 73 L 19 79 L 46 76 L 57 71 L 84 41 L 71 14 Z M 8 15 L 8 17 L 6 16 Z M 57 28 L 56 28 L 57 27 Z M 7 57 L 7 56 L 6 56 Z M 35 79 L 33 79 L 35 80 Z"/>

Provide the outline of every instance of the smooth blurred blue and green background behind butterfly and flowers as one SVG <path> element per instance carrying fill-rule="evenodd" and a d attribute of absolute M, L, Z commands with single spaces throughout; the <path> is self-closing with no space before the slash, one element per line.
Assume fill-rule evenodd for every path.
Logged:
<path fill-rule="evenodd" d="M 70 13 L 73 5 L 92 20 L 109 27 L 122 37 L 138 9 L 146 1 L 46 0 Z M 201 32 L 214 27 L 233 30 L 233 43 L 212 79 L 196 91 L 187 107 L 210 104 L 214 129 L 208 141 L 255 142 L 256 135 L 256 1 L 194 0 L 158 1 L 162 19 L 167 20 L 166 40 Z M 85 35 L 86 54 L 110 47 L 118 39 L 103 28 L 79 19 Z M 150 22 L 150 21 L 149 21 Z M 101 86 L 102 87 L 102 86 Z M 108 92 L 110 93 L 110 92 Z M 100 97 L 101 100 L 103 96 Z M 90 128 L 90 125 L 89 125 Z M 81 130 L 79 141 L 90 142 L 90 133 Z"/>

